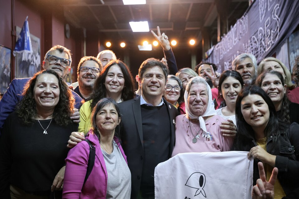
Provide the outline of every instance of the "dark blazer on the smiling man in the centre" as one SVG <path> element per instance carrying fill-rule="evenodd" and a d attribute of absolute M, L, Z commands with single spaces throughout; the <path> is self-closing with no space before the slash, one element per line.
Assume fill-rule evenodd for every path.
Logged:
<path fill-rule="evenodd" d="M 171 137 L 169 158 L 173 151 L 175 143 L 175 117 L 178 115 L 178 110 L 165 99 L 164 106 L 167 106 L 167 111 L 170 120 Z M 128 166 L 131 171 L 131 199 L 135 199 L 139 195 L 141 174 L 143 167 L 143 130 L 141 118 L 140 96 L 119 104 L 122 114 L 122 130 L 121 141 L 122 148 L 125 151 L 128 160 Z M 159 119 L 153 118 L 153 120 Z M 159 139 L 159 138 L 158 138 Z"/>

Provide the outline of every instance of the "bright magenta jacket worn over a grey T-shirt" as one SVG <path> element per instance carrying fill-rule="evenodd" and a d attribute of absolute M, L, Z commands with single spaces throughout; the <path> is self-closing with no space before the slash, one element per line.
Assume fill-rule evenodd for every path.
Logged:
<path fill-rule="evenodd" d="M 106 198 L 107 169 L 101 146 L 98 138 L 93 135 L 91 131 L 88 132 L 86 138 L 90 140 L 96 148 L 93 170 L 83 186 L 88 164 L 89 145 L 87 142 L 82 141 L 78 143 L 77 146 L 69 150 L 68 157 L 65 159 L 66 168 L 64 173 L 62 198 Z M 114 137 L 114 141 L 117 143 L 118 139 Z M 127 157 L 120 143 L 117 145 L 127 162 Z"/>

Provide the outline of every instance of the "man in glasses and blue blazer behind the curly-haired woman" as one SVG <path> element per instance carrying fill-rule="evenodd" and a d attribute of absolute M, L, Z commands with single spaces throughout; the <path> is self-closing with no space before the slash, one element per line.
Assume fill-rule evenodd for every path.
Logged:
<path fill-rule="evenodd" d="M 43 61 L 43 68 L 45 70 L 55 70 L 61 77 L 64 78 L 71 70 L 71 62 L 72 58 L 69 49 L 64 46 L 55 45 L 46 53 L 45 60 Z M 9 84 L 7 91 L 4 93 L 0 101 L 0 129 L 8 115 L 15 111 L 17 104 L 21 101 L 21 99 L 23 99 L 21 94 L 24 86 L 30 79 L 31 78 L 13 79 Z M 74 122 L 79 122 L 80 115 L 78 109 L 80 108 L 82 98 L 74 91 L 72 91 L 72 93 L 76 100 L 76 112 L 71 118 L 75 119 Z"/>

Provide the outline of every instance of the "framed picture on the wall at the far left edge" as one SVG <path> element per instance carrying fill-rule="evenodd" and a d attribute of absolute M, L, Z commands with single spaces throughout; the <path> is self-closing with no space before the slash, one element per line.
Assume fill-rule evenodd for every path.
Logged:
<path fill-rule="evenodd" d="M 11 75 L 11 53 L 12 50 L 0 44 L 0 93 L 7 90 Z"/>

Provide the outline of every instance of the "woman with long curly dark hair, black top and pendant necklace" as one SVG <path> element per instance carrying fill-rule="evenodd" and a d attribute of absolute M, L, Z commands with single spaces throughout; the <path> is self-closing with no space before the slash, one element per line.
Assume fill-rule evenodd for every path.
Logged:
<path fill-rule="evenodd" d="M 74 99 L 54 70 L 37 72 L 22 95 L 1 131 L 0 198 L 48 198 L 63 186 Z"/>

